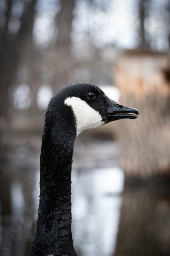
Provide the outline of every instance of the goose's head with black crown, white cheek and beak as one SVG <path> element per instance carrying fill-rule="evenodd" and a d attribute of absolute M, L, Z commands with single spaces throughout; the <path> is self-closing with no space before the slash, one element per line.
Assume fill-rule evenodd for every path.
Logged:
<path fill-rule="evenodd" d="M 49 108 L 55 106 L 53 103 L 59 99 L 60 106 L 57 104 L 57 108 L 62 106 L 63 118 L 68 113 L 68 108 L 72 110 L 77 135 L 89 128 L 96 128 L 118 119 L 135 119 L 138 115 L 136 108 L 126 107 L 111 100 L 99 87 L 92 84 L 79 83 L 63 87 L 51 99 Z M 58 110 L 54 112 L 56 111 Z"/>

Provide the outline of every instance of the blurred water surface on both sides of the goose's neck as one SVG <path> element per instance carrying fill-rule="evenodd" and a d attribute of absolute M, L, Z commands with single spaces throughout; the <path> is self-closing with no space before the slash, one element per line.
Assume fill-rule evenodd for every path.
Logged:
<path fill-rule="evenodd" d="M 77 255 L 169 255 L 170 198 L 145 190 L 123 192 L 124 174 L 117 165 L 118 147 L 113 142 L 83 147 L 86 150 L 75 145 L 72 170 L 72 230 Z M 1 256 L 29 255 L 38 203 L 37 167 L 1 167 Z"/>

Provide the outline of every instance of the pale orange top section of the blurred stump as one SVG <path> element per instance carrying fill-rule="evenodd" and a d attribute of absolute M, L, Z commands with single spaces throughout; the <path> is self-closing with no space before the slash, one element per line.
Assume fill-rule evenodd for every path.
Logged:
<path fill-rule="evenodd" d="M 167 54 L 128 51 L 114 66 L 115 82 L 122 94 L 170 94 L 170 60 Z"/>

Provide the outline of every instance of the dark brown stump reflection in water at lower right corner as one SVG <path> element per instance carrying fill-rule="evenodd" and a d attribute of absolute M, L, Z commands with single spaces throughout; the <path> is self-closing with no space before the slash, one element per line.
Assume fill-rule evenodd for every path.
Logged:
<path fill-rule="evenodd" d="M 170 255 L 170 195 L 125 190 L 114 256 Z"/>

